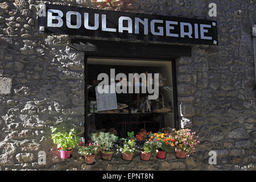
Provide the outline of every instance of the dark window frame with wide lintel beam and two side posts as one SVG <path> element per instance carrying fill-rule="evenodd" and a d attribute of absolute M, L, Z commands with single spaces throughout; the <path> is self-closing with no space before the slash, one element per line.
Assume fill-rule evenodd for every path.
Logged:
<path fill-rule="evenodd" d="M 88 142 L 88 58 L 98 59 L 130 59 L 130 60 L 145 60 L 145 61 L 171 61 L 172 65 L 172 86 L 174 97 L 174 119 L 175 129 L 180 129 L 179 123 L 179 108 L 177 102 L 177 80 L 176 80 L 176 59 L 180 56 L 191 57 L 190 46 L 174 46 L 169 44 L 147 44 L 147 43 L 130 43 L 130 42 L 115 42 L 108 40 L 88 40 L 88 39 L 72 39 L 72 48 L 76 51 L 84 51 L 85 65 L 85 122 L 84 122 L 84 138 Z"/>

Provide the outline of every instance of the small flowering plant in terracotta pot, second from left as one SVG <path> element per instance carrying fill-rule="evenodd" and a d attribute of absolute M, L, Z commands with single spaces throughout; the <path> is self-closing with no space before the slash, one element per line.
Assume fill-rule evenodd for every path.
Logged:
<path fill-rule="evenodd" d="M 100 151 L 100 145 L 89 143 L 85 146 L 79 146 L 79 154 L 84 156 L 86 164 L 93 164 L 97 152 Z"/>

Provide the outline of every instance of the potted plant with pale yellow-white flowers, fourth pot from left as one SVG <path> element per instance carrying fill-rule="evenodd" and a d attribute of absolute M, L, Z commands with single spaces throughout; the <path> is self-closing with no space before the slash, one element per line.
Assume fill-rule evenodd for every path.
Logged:
<path fill-rule="evenodd" d="M 123 154 L 123 160 L 131 160 L 135 152 L 138 151 L 135 146 L 136 142 L 134 140 L 128 140 L 128 142 L 125 140 L 125 142 L 117 148 L 117 154 L 121 152 Z"/>

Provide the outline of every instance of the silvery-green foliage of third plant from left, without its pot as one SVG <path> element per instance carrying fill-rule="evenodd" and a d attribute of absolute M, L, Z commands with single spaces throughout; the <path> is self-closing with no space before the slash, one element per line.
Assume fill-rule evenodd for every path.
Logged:
<path fill-rule="evenodd" d="M 114 134 L 105 132 L 93 133 L 91 138 L 94 143 L 100 144 L 101 150 L 105 151 L 112 151 L 117 140 L 117 137 Z"/>

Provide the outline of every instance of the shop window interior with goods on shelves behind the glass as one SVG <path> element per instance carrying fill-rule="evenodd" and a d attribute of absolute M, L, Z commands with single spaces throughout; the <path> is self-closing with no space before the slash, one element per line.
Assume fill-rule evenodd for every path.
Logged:
<path fill-rule="evenodd" d="M 156 100 L 148 100 L 149 93 L 142 93 L 142 80 L 140 80 L 139 93 L 129 93 L 127 90 L 127 93 L 112 94 L 110 100 L 104 100 L 105 109 L 101 110 L 102 100 L 99 98 L 97 100 L 96 97 L 96 86 L 101 80 L 97 80 L 97 77 L 100 73 L 106 73 L 110 83 L 110 69 L 115 70 L 115 75 L 124 73 L 127 78 L 129 73 L 139 75 L 152 73 L 154 79 L 154 73 L 159 73 L 159 86 L 156 87 L 159 89 L 159 97 Z M 115 84 L 121 80 L 115 80 Z M 87 125 L 89 135 L 104 131 L 125 138 L 131 132 L 135 135 L 141 131 L 156 132 L 163 127 L 175 127 L 171 61 L 88 58 L 86 82 L 88 98 L 86 122 L 89 123 Z M 107 98 L 108 94 L 105 95 Z M 117 108 L 111 109 L 110 105 L 113 103 L 108 102 L 115 102 Z"/>

